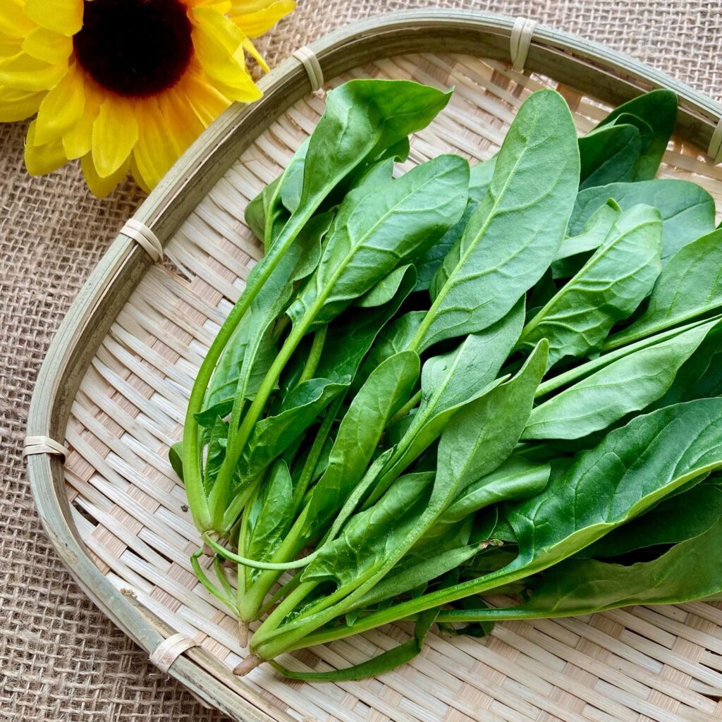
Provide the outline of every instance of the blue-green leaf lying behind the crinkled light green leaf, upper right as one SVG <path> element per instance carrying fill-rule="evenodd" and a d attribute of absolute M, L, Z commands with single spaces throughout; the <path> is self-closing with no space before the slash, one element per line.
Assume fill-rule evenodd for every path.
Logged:
<path fill-rule="evenodd" d="M 690 181 L 664 178 L 586 188 L 577 196 L 567 235 L 579 235 L 591 214 L 610 198 L 617 201 L 622 211 L 640 203 L 659 210 L 663 263 L 679 248 L 712 232 L 715 227 L 715 201 L 704 188 Z"/>

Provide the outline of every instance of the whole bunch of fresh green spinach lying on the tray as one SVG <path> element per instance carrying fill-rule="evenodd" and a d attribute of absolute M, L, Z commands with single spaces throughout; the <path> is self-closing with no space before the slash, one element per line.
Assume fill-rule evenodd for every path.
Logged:
<path fill-rule="evenodd" d="M 449 95 L 337 88 L 246 210 L 266 256 L 170 451 L 193 569 L 244 641 L 262 620 L 239 673 L 398 619 L 414 636 L 350 669 L 273 664 L 358 679 L 434 623 L 722 594 L 722 232 L 654 178 L 676 97 L 578 138 L 540 90 L 490 160 L 400 174 Z"/>

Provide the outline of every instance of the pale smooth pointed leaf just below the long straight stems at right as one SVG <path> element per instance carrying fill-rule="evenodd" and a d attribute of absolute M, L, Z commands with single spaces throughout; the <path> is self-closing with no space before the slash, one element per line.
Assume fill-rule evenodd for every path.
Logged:
<path fill-rule="evenodd" d="M 601 368 L 536 406 L 522 438 L 580 439 L 645 409 L 664 396 L 682 364 L 718 327 L 705 323 Z"/>

